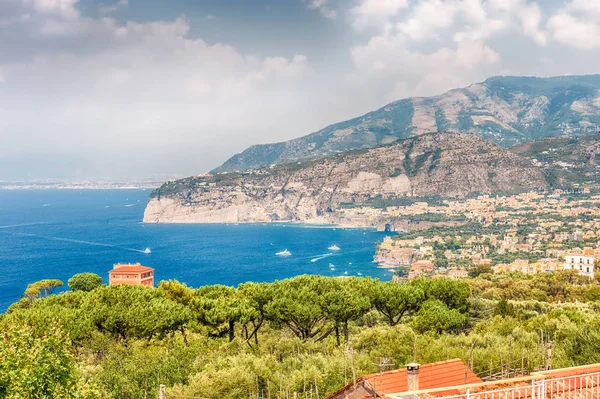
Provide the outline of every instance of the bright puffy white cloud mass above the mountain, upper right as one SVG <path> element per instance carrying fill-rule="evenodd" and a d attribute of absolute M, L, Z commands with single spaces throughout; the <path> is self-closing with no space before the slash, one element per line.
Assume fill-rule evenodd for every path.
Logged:
<path fill-rule="evenodd" d="M 362 0 L 362 4 L 368 1 Z M 573 0 L 572 7 L 576 6 L 589 13 L 600 9 L 585 0 Z M 369 88 L 393 100 L 441 93 L 510 73 L 513 69 L 508 65 L 518 62 L 512 55 L 504 59 L 503 53 L 548 47 L 551 36 L 544 11 L 548 9 L 534 0 L 413 0 L 402 12 L 382 14 L 386 23 L 379 24 L 378 33 L 352 48 L 354 70 L 349 81 L 357 88 L 360 82 L 368 82 Z M 563 22 L 569 26 L 574 21 Z M 357 26 L 353 21 L 353 26 L 366 24 Z M 576 34 L 596 35 L 600 40 L 590 27 L 582 27 Z M 516 42 L 507 48 L 505 43 L 511 41 Z M 528 66 L 533 62 L 527 54 L 523 57 Z M 539 62 L 536 65 L 539 68 L 514 70 L 542 69 Z"/>

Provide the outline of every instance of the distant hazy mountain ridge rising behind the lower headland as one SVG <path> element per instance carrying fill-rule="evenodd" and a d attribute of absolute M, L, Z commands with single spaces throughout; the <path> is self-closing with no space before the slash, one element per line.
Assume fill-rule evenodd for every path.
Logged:
<path fill-rule="evenodd" d="M 461 131 L 505 147 L 595 132 L 600 75 L 495 77 L 436 97 L 409 98 L 298 139 L 250 147 L 213 172 L 318 159 L 429 132 Z"/>

